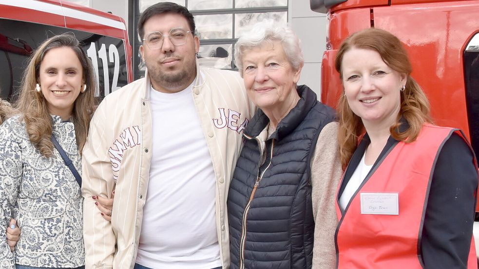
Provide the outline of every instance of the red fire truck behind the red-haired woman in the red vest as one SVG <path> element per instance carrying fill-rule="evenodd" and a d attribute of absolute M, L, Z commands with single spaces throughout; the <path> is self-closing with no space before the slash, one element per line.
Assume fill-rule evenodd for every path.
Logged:
<path fill-rule="evenodd" d="M 381 28 L 406 46 L 412 76 L 426 92 L 435 123 L 462 129 L 479 154 L 479 0 L 309 2 L 313 11 L 327 13 L 328 19 L 323 103 L 335 107 L 343 91 L 334 69 L 341 42 L 359 30 Z M 478 246 L 479 222 L 475 222 L 474 234 Z"/>

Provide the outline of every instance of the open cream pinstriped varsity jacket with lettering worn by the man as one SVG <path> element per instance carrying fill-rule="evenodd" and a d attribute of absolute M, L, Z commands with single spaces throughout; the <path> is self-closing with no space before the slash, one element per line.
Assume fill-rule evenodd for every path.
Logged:
<path fill-rule="evenodd" d="M 192 95 L 216 176 L 216 228 L 223 268 L 228 269 L 226 199 L 241 134 L 255 108 L 237 72 L 196 70 Z M 151 160 L 150 84 L 147 73 L 109 94 L 92 119 L 83 149 L 86 269 L 134 267 Z M 115 185 L 110 223 L 101 217 L 92 196 L 109 197 Z"/>

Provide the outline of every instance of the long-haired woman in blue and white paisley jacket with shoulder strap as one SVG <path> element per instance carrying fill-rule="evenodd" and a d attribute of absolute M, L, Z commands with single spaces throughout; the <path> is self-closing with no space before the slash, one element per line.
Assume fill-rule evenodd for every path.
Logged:
<path fill-rule="evenodd" d="M 75 36 L 47 39 L 32 55 L 18 114 L 0 126 L 0 221 L 21 228 L 15 253 L 0 233 L 1 268 L 83 267 L 80 153 L 95 89 Z"/>

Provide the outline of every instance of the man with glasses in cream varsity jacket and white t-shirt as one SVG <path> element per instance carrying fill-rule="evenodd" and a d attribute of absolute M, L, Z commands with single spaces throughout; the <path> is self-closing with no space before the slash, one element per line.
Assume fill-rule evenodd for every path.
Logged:
<path fill-rule="evenodd" d="M 254 107 L 236 72 L 198 67 L 194 31 L 185 7 L 146 9 L 145 78 L 96 110 L 83 150 L 88 269 L 229 267 L 226 199 Z M 113 188 L 113 210 L 100 213 L 96 195 Z"/>

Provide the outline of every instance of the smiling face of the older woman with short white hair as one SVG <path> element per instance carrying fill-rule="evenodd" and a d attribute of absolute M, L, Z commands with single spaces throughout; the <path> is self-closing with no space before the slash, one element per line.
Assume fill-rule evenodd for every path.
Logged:
<path fill-rule="evenodd" d="M 293 70 L 280 41 L 245 51 L 242 62 L 245 87 L 255 105 L 265 112 L 284 110 L 285 115 L 296 105 L 301 68 Z"/>

